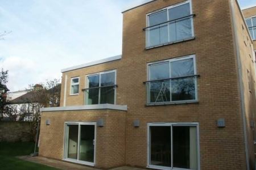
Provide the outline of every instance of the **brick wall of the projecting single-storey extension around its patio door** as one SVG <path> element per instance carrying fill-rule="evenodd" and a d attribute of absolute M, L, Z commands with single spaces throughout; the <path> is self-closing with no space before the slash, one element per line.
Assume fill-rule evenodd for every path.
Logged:
<path fill-rule="evenodd" d="M 124 111 L 58 111 L 43 112 L 41 118 L 39 155 L 49 158 L 64 157 L 65 121 L 97 122 L 104 118 L 104 127 L 96 126 L 96 167 L 109 168 L 125 164 Z M 46 125 L 46 120 L 51 125 Z"/>

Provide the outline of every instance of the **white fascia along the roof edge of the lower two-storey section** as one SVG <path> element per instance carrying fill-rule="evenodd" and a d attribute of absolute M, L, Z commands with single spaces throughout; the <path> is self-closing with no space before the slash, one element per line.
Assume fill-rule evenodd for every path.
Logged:
<path fill-rule="evenodd" d="M 81 69 L 81 68 L 84 68 L 84 67 L 94 66 L 94 65 L 101 64 L 101 63 L 105 63 L 105 62 L 115 61 L 115 60 L 118 60 L 118 59 L 122 59 L 122 55 L 114 56 L 114 57 L 108 57 L 108 58 L 100 59 L 100 60 L 97 60 L 97 61 L 84 63 L 82 65 L 68 67 L 66 69 L 62 69 L 61 73 L 71 71 L 71 70 Z"/>

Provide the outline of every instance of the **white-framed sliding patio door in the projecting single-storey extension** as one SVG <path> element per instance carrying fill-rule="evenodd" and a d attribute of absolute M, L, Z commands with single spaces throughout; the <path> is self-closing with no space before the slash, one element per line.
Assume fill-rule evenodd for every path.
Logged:
<path fill-rule="evenodd" d="M 94 165 L 95 137 L 95 122 L 67 122 L 64 160 Z"/>

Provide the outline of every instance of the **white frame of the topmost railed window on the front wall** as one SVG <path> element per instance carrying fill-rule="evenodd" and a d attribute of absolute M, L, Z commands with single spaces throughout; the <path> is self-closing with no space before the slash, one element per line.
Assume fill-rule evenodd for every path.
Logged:
<path fill-rule="evenodd" d="M 174 5 L 171 5 L 171 6 L 168 6 L 168 7 L 165 7 L 165 8 L 161 8 L 159 10 L 156 10 L 156 11 L 153 11 L 153 12 L 150 12 L 150 13 L 147 13 L 146 14 L 146 24 L 147 24 L 147 27 L 148 27 L 148 24 L 149 24 L 149 16 L 150 15 L 153 15 L 153 14 L 158 14 L 159 12 L 162 12 L 164 10 L 167 10 L 167 20 L 169 20 L 169 15 L 168 15 L 168 10 L 171 9 L 171 8 L 175 8 L 177 6 L 181 6 L 181 5 L 184 5 L 185 3 L 189 3 L 189 6 L 190 6 L 190 15 L 193 14 L 193 11 L 192 11 L 192 1 L 191 0 L 187 0 L 187 1 L 184 1 L 184 2 L 180 2 L 180 3 L 176 3 Z M 168 45 L 168 44 L 173 44 L 175 42 L 181 42 L 181 41 L 184 41 L 184 40 L 177 40 L 177 41 L 169 41 L 170 40 L 170 35 L 169 35 L 169 24 L 167 23 L 167 27 L 168 27 L 168 42 L 165 43 L 165 44 L 159 44 L 159 45 L 155 45 L 155 46 L 148 46 L 148 35 L 149 33 L 147 33 L 147 30 L 146 30 L 146 49 L 150 49 L 150 48 L 155 48 L 155 47 L 158 47 L 158 46 L 163 46 L 163 45 Z M 191 32 L 192 32 L 192 37 L 188 38 L 188 39 L 185 39 L 185 40 L 191 40 L 195 37 L 195 31 L 194 31 L 194 22 L 193 22 L 193 18 L 191 19 Z"/>

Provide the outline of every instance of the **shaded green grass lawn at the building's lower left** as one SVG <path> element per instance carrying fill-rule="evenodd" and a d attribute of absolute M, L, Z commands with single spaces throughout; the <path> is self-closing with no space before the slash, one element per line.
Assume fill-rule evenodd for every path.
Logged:
<path fill-rule="evenodd" d="M 27 162 L 15 156 L 21 155 L 30 155 L 34 152 L 34 143 L 33 142 L 0 142 L 0 169 L 6 170 L 27 170 L 27 169 L 49 169 L 53 170 L 56 168 L 47 167 L 46 165 Z"/>

